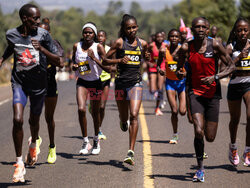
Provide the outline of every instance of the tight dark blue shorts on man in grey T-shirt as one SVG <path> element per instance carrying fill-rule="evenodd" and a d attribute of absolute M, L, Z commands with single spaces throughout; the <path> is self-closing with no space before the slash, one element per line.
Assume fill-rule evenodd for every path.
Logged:
<path fill-rule="evenodd" d="M 12 84 L 13 91 L 13 105 L 21 103 L 23 108 L 27 104 L 28 94 L 25 92 L 21 85 Z M 44 95 L 32 95 L 30 98 L 30 112 L 34 115 L 40 115 L 43 109 Z"/>

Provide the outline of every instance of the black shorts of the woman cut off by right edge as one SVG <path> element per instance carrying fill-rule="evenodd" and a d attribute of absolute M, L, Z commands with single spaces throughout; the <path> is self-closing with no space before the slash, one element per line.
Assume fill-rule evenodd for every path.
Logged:
<path fill-rule="evenodd" d="M 227 99 L 230 101 L 240 100 L 243 95 L 250 91 L 250 83 L 228 84 Z"/>

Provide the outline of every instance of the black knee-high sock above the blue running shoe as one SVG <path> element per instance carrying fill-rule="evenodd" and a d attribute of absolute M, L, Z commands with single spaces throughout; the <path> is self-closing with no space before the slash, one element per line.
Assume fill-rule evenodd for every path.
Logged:
<path fill-rule="evenodd" d="M 204 140 L 203 138 L 194 138 L 194 149 L 196 154 L 196 159 L 198 163 L 198 167 L 201 170 L 204 170 L 203 166 L 203 153 L 204 153 Z"/>

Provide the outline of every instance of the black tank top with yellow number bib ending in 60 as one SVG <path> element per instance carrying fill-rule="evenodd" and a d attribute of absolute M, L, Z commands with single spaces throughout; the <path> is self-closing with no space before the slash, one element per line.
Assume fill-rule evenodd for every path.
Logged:
<path fill-rule="evenodd" d="M 137 45 L 131 46 L 127 40 L 123 39 L 122 49 L 116 53 L 116 58 L 120 59 L 128 56 L 131 61 L 127 64 L 117 65 L 117 79 L 116 84 L 123 87 L 131 87 L 136 83 L 142 81 L 140 67 L 142 62 L 142 45 L 138 38 L 136 38 Z"/>

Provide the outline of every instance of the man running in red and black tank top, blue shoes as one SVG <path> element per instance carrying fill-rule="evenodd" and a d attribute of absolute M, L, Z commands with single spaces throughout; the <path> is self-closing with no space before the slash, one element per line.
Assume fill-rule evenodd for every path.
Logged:
<path fill-rule="evenodd" d="M 208 142 L 216 136 L 221 89 L 219 79 L 234 70 L 233 62 L 226 50 L 216 40 L 207 38 L 205 18 L 198 17 L 192 21 L 194 39 L 186 41 L 178 51 L 179 61 L 177 75 L 181 78 L 185 73 L 182 67 L 188 57 L 189 97 L 194 123 L 194 148 L 198 170 L 193 181 L 204 182 L 204 135 Z M 218 58 L 227 65 L 224 71 L 217 73 Z"/>

